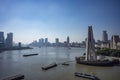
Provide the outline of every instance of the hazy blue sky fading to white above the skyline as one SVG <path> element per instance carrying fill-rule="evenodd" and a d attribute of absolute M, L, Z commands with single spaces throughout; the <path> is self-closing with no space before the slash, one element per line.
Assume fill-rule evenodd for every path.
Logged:
<path fill-rule="evenodd" d="M 95 39 L 102 31 L 120 35 L 120 0 L 0 0 L 0 31 L 14 33 L 15 42 L 39 38 L 82 41 L 88 25 Z"/>

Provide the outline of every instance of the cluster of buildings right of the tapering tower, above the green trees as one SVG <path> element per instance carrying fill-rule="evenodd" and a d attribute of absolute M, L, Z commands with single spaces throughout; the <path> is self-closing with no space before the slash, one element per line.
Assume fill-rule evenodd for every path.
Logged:
<path fill-rule="evenodd" d="M 107 31 L 103 31 L 102 41 L 98 40 L 96 46 L 100 48 L 120 49 L 120 37 L 119 35 L 112 35 L 109 40 Z"/>

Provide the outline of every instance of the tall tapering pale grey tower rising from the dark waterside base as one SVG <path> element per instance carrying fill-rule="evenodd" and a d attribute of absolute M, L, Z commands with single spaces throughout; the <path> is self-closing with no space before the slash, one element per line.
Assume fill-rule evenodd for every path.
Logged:
<path fill-rule="evenodd" d="M 86 61 L 96 61 L 97 56 L 95 54 L 95 40 L 93 38 L 92 26 L 88 26 L 88 36 L 86 43 Z"/>

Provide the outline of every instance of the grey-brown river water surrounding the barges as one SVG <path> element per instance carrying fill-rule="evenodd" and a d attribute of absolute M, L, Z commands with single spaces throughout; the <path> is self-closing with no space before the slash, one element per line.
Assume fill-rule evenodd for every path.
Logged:
<path fill-rule="evenodd" d="M 95 67 L 76 64 L 75 57 L 81 56 L 84 48 L 42 47 L 28 50 L 5 51 L 0 53 L 0 79 L 24 74 L 24 80 L 88 80 L 74 76 L 75 72 L 89 73 L 101 80 L 120 80 L 120 66 Z M 23 57 L 24 54 L 38 53 L 37 56 Z M 60 65 L 62 62 L 69 66 Z M 49 70 L 41 67 L 56 62 L 59 65 Z"/>

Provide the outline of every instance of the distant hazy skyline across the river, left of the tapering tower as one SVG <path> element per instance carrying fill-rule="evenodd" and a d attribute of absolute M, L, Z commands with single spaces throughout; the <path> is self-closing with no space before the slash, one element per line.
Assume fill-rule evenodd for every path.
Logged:
<path fill-rule="evenodd" d="M 81 44 L 78 42 L 72 42 L 70 43 L 70 38 L 69 36 L 67 36 L 66 40 L 64 42 L 60 42 L 59 38 L 55 38 L 55 42 L 54 43 L 50 43 L 48 41 L 48 38 L 41 38 L 38 41 L 35 40 L 33 41 L 31 44 L 31 46 L 47 46 L 47 47 L 80 47 Z"/>

